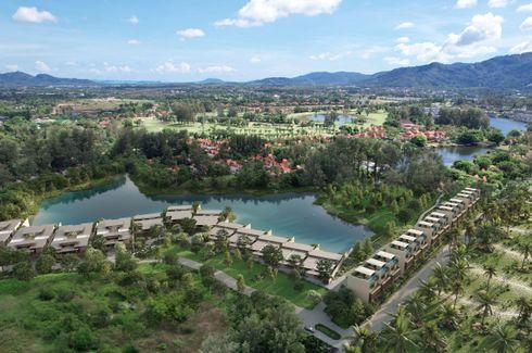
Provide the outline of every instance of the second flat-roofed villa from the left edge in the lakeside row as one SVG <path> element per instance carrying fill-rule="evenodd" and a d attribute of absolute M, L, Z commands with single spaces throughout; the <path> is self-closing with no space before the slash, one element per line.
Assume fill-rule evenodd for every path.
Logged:
<path fill-rule="evenodd" d="M 8 247 L 40 254 L 52 241 L 54 229 L 54 225 L 22 227 L 13 235 Z"/>

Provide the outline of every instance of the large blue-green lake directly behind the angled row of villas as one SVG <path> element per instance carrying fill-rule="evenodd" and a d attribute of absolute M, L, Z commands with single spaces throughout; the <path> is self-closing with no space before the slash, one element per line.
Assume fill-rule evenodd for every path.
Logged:
<path fill-rule="evenodd" d="M 129 178 L 86 191 L 68 192 L 42 203 L 35 225 L 50 223 L 79 224 L 100 217 L 116 218 L 161 212 L 168 205 L 201 201 L 203 209 L 221 210 L 226 205 L 237 214 L 237 222 L 253 228 L 271 229 L 274 235 L 295 237 L 299 242 L 319 243 L 321 249 L 343 252 L 371 232 L 332 217 L 313 202 L 313 194 L 271 196 L 159 196 L 142 194 Z"/>

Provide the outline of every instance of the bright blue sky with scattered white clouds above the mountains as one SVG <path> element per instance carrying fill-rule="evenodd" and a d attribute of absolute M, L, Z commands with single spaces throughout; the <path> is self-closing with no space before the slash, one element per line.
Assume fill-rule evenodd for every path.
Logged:
<path fill-rule="evenodd" d="M 529 51 L 532 0 L 0 2 L 0 72 L 240 81 Z"/>

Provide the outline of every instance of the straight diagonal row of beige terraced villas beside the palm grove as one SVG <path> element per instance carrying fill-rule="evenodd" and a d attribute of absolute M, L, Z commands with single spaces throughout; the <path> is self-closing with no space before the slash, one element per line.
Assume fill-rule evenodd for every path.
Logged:
<path fill-rule="evenodd" d="M 436 205 L 414 228 L 347 274 L 347 288 L 365 302 L 375 301 L 382 289 L 407 273 L 425 251 L 434 247 L 441 235 L 474 205 L 479 198 L 479 190 L 466 188 L 449 201 Z"/>

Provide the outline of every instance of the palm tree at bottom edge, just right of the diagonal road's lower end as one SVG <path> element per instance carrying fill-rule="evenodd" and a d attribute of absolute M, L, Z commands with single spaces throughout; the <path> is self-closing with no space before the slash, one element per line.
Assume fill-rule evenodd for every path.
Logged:
<path fill-rule="evenodd" d="M 418 351 L 418 345 L 414 342 L 416 331 L 403 306 L 397 308 L 393 323 L 384 325 L 385 328 L 380 335 L 384 352 L 409 353 Z"/>

